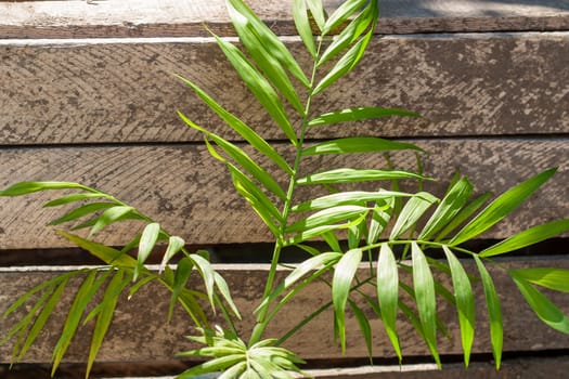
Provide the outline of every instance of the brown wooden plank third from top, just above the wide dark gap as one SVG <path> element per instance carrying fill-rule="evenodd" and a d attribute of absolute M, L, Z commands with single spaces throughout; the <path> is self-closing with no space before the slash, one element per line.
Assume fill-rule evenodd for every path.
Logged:
<path fill-rule="evenodd" d="M 440 139 L 413 141 L 430 155 L 425 173 L 440 183 L 427 188 L 442 194 L 460 170 L 477 191 L 505 191 L 539 171 L 559 167 L 558 173 L 515 215 L 484 237 L 503 238 L 536 223 L 569 214 L 569 143 L 567 139 Z M 395 155 L 398 167 L 413 169 L 413 155 Z M 307 170 L 322 167 L 383 167 L 373 156 L 320 156 Z M 203 145 L 52 147 L 0 149 L 0 187 L 25 180 L 78 181 L 114 194 L 159 220 L 189 244 L 272 241 L 263 224 L 234 193 L 221 164 Z M 308 172 L 308 171 L 307 171 Z M 315 196 L 316 190 L 307 188 Z M 300 192 L 299 196 L 308 193 Z M 43 225 L 61 211 L 40 209 L 53 194 L 0 198 L 0 248 L 31 249 L 69 246 Z M 132 225 L 103 233 L 102 240 L 124 245 Z"/>

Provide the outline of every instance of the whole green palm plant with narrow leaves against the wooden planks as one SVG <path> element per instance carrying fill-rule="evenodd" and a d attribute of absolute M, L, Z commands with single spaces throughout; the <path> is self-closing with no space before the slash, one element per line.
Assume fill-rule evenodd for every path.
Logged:
<path fill-rule="evenodd" d="M 305 71 L 287 47 L 242 1 L 227 0 L 229 14 L 242 47 L 212 36 L 236 73 L 259 101 L 271 125 L 250 126 L 229 112 L 192 78 L 180 79 L 219 116 L 220 122 L 237 133 L 254 153 L 246 153 L 222 135 L 197 125 L 191 116 L 179 113 L 181 119 L 199 131 L 209 153 L 228 168 L 238 194 L 251 206 L 274 236 L 274 250 L 263 296 L 255 310 L 256 325 L 251 336 L 240 336 L 233 326 L 238 317 L 230 288 L 214 271 L 202 252 L 186 251 L 180 237 L 169 235 L 158 223 L 111 195 L 76 183 L 24 182 L 1 194 L 20 196 L 38 191 L 74 190 L 46 206 L 75 206 L 53 225 L 75 222 L 73 230 L 89 230 L 87 237 L 59 231 L 62 236 L 85 248 L 105 263 L 101 267 L 80 270 L 59 276 L 23 296 L 7 314 L 28 301 L 30 311 L 10 330 L 4 341 L 15 338 L 14 358 L 21 358 L 38 336 L 52 313 L 70 276 L 82 275 L 62 337 L 54 348 L 55 370 L 61 363 L 79 323 L 94 321 L 89 354 L 91 367 L 102 343 L 117 303 L 127 290 L 133 295 L 150 282 L 159 282 L 172 292 L 170 314 L 180 303 L 201 330 L 192 340 L 204 348 L 181 353 L 210 360 L 190 368 L 181 377 L 219 371 L 221 378 L 287 378 L 290 371 L 301 373 L 302 362 L 281 347 L 298 329 L 316 315 L 334 313 L 334 332 L 341 350 L 346 349 L 346 312 L 351 312 L 360 326 L 363 343 L 372 352 L 370 315 L 382 319 L 396 354 L 402 360 L 402 342 L 398 323 L 404 317 L 426 342 L 440 365 L 437 339 L 448 334 L 438 315 L 437 303 L 445 299 L 457 311 L 464 361 L 468 365 L 475 337 L 475 285 L 486 296 L 491 344 L 496 367 L 501 364 L 503 321 L 497 289 L 487 270 L 494 256 L 542 241 L 569 230 L 569 220 L 534 226 L 482 251 L 471 251 L 467 243 L 499 223 L 517 209 L 554 173 L 546 170 L 514 186 L 497 197 L 475 196 L 473 184 L 455 175 L 441 197 L 423 191 L 423 182 L 431 181 L 421 170 L 422 148 L 409 143 L 375 136 L 348 138 L 311 142 L 311 133 L 322 128 L 348 128 L 349 122 L 378 117 L 417 115 L 365 104 L 346 109 L 314 112 L 314 99 L 334 91 L 333 84 L 350 73 L 360 62 L 373 37 L 378 17 L 377 1 L 348 0 L 329 15 L 320 0 L 295 0 L 294 21 L 303 42 L 311 67 Z M 277 128 L 289 144 L 292 154 L 282 154 L 277 143 L 261 136 L 261 130 Z M 348 157 L 351 154 L 375 154 L 384 167 L 318 167 L 311 158 L 322 155 Z M 399 169 L 391 162 L 395 154 L 417 156 L 417 170 Z M 348 161 L 349 159 L 345 159 Z M 262 161 L 262 164 L 261 164 Z M 405 186 L 403 186 L 403 182 Z M 415 191 L 403 191 L 416 184 Z M 301 190 L 309 188 L 309 191 Z M 306 195 L 306 194 L 311 195 Z M 124 249 L 117 250 L 96 243 L 93 237 L 104 227 L 124 220 L 146 224 Z M 316 248 L 313 240 L 326 248 Z M 161 270 L 150 271 L 145 260 L 157 243 L 167 249 Z M 306 250 L 310 258 L 290 267 L 283 282 L 276 279 L 282 253 L 287 247 Z M 128 254 L 137 250 L 134 254 Z M 181 256 L 176 266 L 168 265 Z M 435 259 L 443 257 L 444 259 Z M 460 258 L 475 262 L 477 274 L 467 274 Z M 367 269 L 362 270 L 366 262 Z M 448 275 L 452 289 L 437 279 Z M 197 274 L 205 291 L 187 288 L 187 279 Z M 412 284 L 402 280 L 402 274 Z M 327 275 L 324 275 L 327 274 Z M 569 332 L 569 319 L 540 290 L 540 287 L 568 291 L 569 271 L 554 267 L 509 270 L 508 274 L 538 316 L 551 327 Z M 296 293 L 314 280 L 331 288 L 331 301 L 301 319 L 283 336 L 267 336 L 267 327 L 285 310 Z M 371 290 L 370 290 L 371 289 Z M 104 291 L 102 300 L 89 313 L 89 302 Z M 373 293 L 373 295 L 370 295 Z M 202 308 L 204 301 L 221 310 L 227 325 L 212 328 Z M 366 304 L 368 309 L 362 309 Z M 349 311 L 348 311 L 349 309 Z M 87 314 L 86 314 L 87 313 Z"/>

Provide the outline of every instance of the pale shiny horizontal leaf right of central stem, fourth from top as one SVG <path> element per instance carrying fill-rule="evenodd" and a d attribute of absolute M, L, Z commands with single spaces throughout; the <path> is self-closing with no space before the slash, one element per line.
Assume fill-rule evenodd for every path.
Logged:
<path fill-rule="evenodd" d="M 325 195 L 318 197 L 312 200 L 301 202 L 294 206 L 290 211 L 293 212 L 303 212 L 310 210 L 322 210 L 332 207 L 338 206 L 348 206 L 348 205 L 362 205 L 368 201 L 384 201 L 384 199 L 389 199 L 392 197 L 411 197 L 415 196 L 413 194 L 408 194 L 404 192 L 393 192 L 393 191 L 377 191 L 377 192 L 366 192 L 366 191 L 348 191 L 340 192 L 337 194 Z M 385 204 L 385 202 L 384 202 Z M 375 205 L 374 209 L 387 209 L 388 206 Z"/>

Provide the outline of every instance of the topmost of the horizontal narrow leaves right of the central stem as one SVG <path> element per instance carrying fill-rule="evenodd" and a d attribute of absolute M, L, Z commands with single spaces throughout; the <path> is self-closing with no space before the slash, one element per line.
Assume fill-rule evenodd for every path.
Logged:
<path fill-rule="evenodd" d="M 380 117 L 391 116 L 406 116 L 419 117 L 418 114 L 395 108 L 377 108 L 377 107 L 355 107 L 347 108 L 336 112 L 326 113 L 314 117 L 308 122 L 309 127 L 320 127 L 325 125 L 340 123 L 347 121 L 371 120 Z"/>

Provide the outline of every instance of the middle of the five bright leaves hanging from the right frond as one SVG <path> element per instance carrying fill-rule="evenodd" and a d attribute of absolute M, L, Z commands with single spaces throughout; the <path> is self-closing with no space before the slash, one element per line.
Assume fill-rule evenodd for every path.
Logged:
<path fill-rule="evenodd" d="M 417 311 L 425 334 L 425 341 L 431 352 L 437 352 L 437 299 L 435 293 L 435 280 L 430 272 L 427 258 L 416 243 L 411 244 L 411 257 L 413 263 L 413 287 L 415 291 Z"/>

